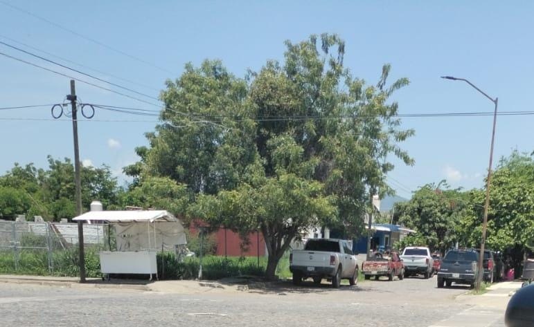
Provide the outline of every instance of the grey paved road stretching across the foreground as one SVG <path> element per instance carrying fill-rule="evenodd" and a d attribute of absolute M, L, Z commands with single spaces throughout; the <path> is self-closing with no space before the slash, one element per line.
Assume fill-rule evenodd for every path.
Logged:
<path fill-rule="evenodd" d="M 436 277 L 364 281 L 339 290 L 310 281 L 296 288 L 288 282 L 248 292 L 202 288 L 176 294 L 165 285 L 147 292 L 0 283 L 2 326 L 504 326 L 501 309 L 481 312 L 458 301 L 468 288 L 437 289 Z M 468 321 L 473 314 L 492 314 L 492 323 L 451 320 Z"/>

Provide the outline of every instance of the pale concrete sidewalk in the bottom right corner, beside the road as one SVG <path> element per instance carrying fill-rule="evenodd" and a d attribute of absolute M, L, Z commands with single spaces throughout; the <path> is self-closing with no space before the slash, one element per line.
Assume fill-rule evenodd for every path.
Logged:
<path fill-rule="evenodd" d="M 459 303 L 468 307 L 429 327 L 504 327 L 504 312 L 510 297 L 521 288 L 520 281 L 495 283 L 483 295 L 460 295 Z"/>

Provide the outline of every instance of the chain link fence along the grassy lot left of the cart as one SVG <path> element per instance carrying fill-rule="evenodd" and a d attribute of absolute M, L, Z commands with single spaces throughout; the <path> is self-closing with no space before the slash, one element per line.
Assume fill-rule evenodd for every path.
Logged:
<path fill-rule="evenodd" d="M 112 247 L 109 225 L 84 224 L 83 230 L 86 266 L 98 270 L 92 256 Z M 0 220 L 0 273 L 69 276 L 78 270 L 78 224 Z"/>

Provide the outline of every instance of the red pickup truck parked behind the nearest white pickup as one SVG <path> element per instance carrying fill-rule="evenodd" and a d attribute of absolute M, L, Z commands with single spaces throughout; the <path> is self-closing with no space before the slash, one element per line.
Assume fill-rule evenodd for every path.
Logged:
<path fill-rule="evenodd" d="M 368 261 L 362 263 L 362 272 L 365 279 L 379 279 L 380 276 L 387 276 L 393 281 L 393 276 L 398 276 L 400 280 L 404 279 L 404 264 L 400 261 L 398 252 L 389 252 L 388 254 L 376 253 Z"/>

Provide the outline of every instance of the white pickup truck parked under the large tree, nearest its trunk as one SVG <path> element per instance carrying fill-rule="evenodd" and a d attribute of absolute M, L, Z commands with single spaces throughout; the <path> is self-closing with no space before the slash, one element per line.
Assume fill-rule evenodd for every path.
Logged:
<path fill-rule="evenodd" d="M 339 288 L 341 279 L 348 279 L 351 286 L 358 282 L 357 259 L 346 240 L 309 239 L 304 250 L 290 254 L 290 271 L 295 285 L 309 277 L 316 284 L 326 278 L 335 288 Z"/>

